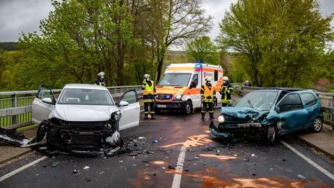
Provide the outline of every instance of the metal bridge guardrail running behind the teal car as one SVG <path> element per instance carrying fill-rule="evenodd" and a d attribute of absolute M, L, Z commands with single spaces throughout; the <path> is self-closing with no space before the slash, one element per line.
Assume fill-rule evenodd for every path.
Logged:
<path fill-rule="evenodd" d="M 266 89 L 261 87 L 246 87 L 242 86 L 239 90 L 239 95 L 246 95 L 250 91 Z M 321 102 L 321 111 L 324 116 L 324 123 L 331 125 L 334 130 L 334 93 L 315 92 L 319 96 Z"/>

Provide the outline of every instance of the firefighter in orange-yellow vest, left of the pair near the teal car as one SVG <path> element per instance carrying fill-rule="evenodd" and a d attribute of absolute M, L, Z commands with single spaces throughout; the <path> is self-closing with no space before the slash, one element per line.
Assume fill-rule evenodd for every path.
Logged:
<path fill-rule="evenodd" d="M 202 119 L 205 117 L 205 113 L 209 111 L 211 119 L 214 119 L 214 101 L 216 100 L 216 91 L 214 85 L 211 84 L 211 77 L 205 79 L 205 84 L 200 89 L 200 97 L 202 99 Z M 209 106 L 207 108 L 207 106 Z"/>

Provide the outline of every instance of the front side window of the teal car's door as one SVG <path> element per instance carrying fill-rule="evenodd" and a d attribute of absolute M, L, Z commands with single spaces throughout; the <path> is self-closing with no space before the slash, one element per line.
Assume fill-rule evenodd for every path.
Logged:
<path fill-rule="evenodd" d="M 301 104 L 301 98 L 298 94 L 286 95 L 283 100 L 278 103 L 278 107 L 280 109 L 280 113 L 285 111 L 303 109 L 303 105 Z"/>

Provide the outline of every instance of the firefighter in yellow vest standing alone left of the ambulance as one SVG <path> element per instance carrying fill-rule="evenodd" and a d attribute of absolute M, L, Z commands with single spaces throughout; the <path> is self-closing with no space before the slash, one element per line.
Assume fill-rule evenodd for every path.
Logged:
<path fill-rule="evenodd" d="M 150 115 L 152 120 L 154 118 L 154 97 L 156 95 L 154 82 L 150 80 L 150 75 L 144 75 L 143 85 L 141 86 L 143 89 L 143 100 L 144 100 L 144 113 L 145 117 L 144 120 L 148 119 L 148 106 L 150 105 Z"/>

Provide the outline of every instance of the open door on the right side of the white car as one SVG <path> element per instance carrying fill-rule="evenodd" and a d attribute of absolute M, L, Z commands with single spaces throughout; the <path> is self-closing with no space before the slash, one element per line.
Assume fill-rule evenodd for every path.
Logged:
<path fill-rule="evenodd" d="M 120 118 L 119 130 L 125 130 L 129 127 L 139 125 L 141 106 L 138 101 L 137 92 L 135 90 L 127 91 L 122 95 L 122 97 L 120 97 L 116 104 L 120 104 L 121 101 L 128 102 L 129 105 L 120 107 L 120 111 L 122 111 L 122 118 Z"/>

